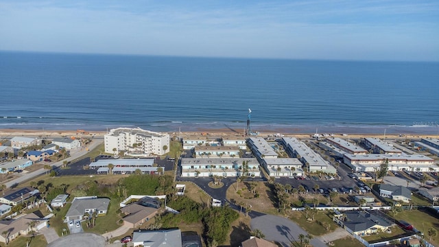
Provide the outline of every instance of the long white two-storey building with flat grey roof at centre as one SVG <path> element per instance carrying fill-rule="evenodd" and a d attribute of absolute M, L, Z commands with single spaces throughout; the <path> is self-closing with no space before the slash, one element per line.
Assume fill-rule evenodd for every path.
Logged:
<path fill-rule="evenodd" d="M 256 158 L 181 158 L 182 177 L 260 177 Z M 247 171 L 244 164 L 248 165 Z"/>

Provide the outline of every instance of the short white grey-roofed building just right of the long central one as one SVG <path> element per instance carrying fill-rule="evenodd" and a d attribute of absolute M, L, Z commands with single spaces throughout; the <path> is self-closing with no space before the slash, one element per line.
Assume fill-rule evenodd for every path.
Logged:
<path fill-rule="evenodd" d="M 303 176 L 302 163 L 297 158 L 263 158 L 262 165 L 268 176 Z"/>

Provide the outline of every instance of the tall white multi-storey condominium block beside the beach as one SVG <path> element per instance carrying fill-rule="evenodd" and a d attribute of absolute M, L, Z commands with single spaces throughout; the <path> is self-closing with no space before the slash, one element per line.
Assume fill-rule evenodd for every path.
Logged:
<path fill-rule="evenodd" d="M 105 152 L 163 155 L 169 152 L 169 134 L 141 128 L 116 128 L 104 135 Z M 164 148 L 167 148 L 166 150 Z"/>

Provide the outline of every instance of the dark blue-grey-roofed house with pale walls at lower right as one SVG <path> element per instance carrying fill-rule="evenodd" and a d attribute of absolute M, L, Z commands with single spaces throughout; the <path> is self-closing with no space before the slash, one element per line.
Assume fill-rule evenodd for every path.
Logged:
<path fill-rule="evenodd" d="M 336 212 L 333 220 L 348 233 L 356 235 L 370 235 L 387 231 L 390 226 L 394 225 L 374 211 Z"/>

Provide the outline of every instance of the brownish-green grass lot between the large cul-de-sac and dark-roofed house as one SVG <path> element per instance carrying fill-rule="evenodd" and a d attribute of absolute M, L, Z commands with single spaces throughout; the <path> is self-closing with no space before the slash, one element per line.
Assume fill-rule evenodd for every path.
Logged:
<path fill-rule="evenodd" d="M 291 220 L 296 222 L 300 227 L 302 227 L 305 231 L 312 235 L 320 236 L 327 233 L 331 233 L 335 231 L 337 228 L 337 224 L 335 224 L 332 220 L 332 215 L 330 211 L 319 211 L 315 217 L 313 222 L 308 222 L 306 219 L 306 215 L 304 212 L 289 212 L 288 216 Z M 308 217 L 311 217 L 308 215 Z M 327 231 L 326 228 L 322 226 L 323 222 L 327 222 L 330 226 Z"/>

